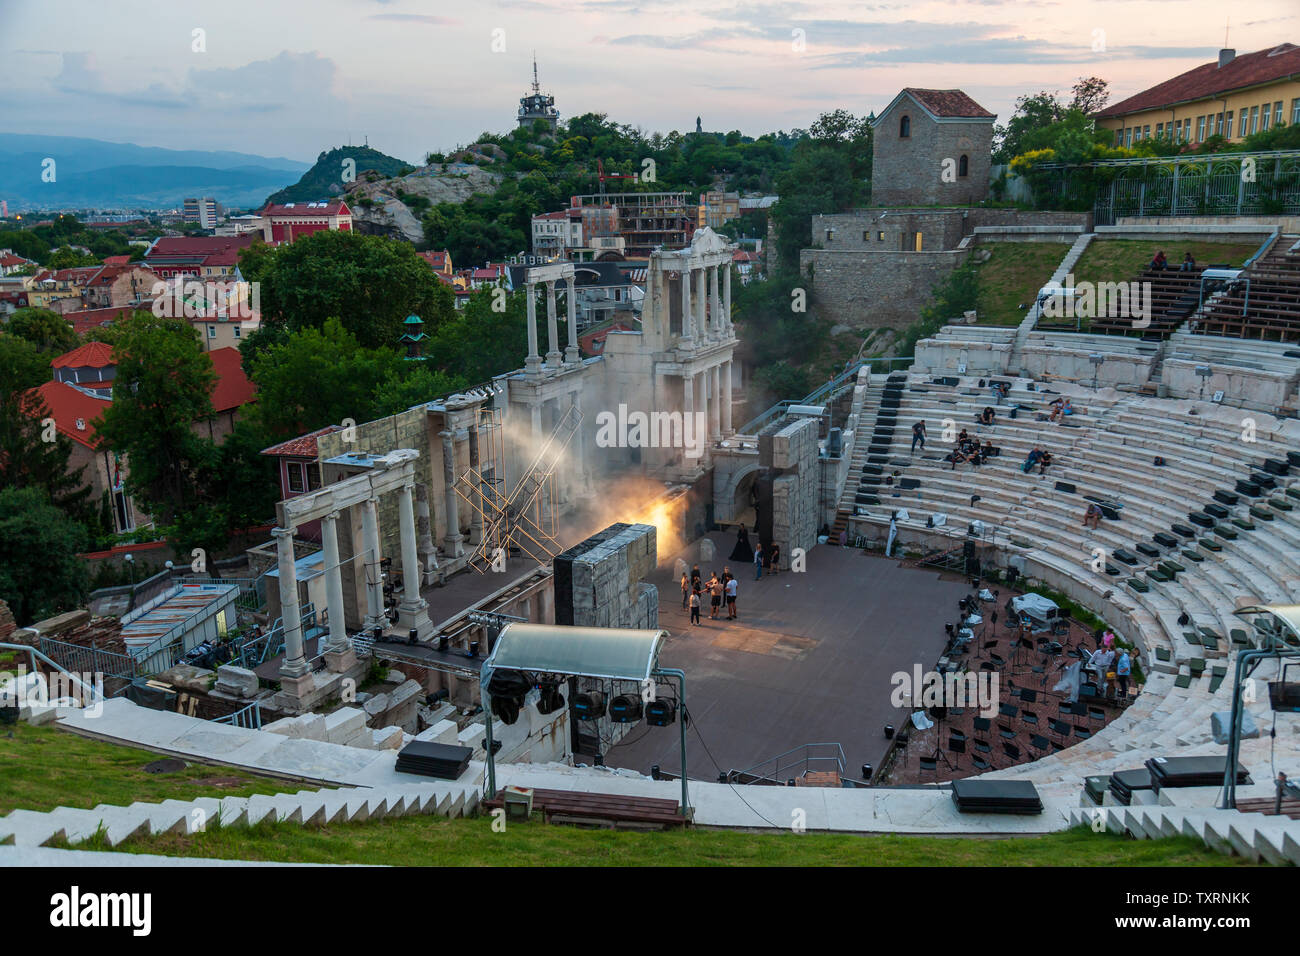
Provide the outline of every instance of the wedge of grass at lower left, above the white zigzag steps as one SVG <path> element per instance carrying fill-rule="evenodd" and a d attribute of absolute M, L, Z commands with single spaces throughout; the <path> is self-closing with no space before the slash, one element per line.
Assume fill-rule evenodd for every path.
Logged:
<path fill-rule="evenodd" d="M 13 736 L 0 732 L 0 813 L 313 790 L 203 763 L 173 774 L 147 774 L 144 765 L 160 760 L 159 754 L 48 726 L 17 723 L 9 730 Z"/>

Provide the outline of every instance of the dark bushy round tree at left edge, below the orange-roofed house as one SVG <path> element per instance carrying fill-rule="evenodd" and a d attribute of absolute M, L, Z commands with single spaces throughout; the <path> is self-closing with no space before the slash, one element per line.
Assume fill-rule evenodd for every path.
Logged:
<path fill-rule="evenodd" d="M 20 626 L 82 606 L 87 541 L 39 488 L 0 490 L 0 597 Z"/>

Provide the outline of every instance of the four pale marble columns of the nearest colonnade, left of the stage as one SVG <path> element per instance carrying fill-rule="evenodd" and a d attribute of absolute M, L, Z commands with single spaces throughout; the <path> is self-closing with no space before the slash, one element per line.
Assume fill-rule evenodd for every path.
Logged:
<path fill-rule="evenodd" d="M 378 499 L 367 498 L 361 507 L 361 544 L 365 576 L 365 628 L 387 627 L 384 613 L 384 579 L 380 568 Z M 338 548 L 338 511 L 321 516 L 321 550 L 325 561 L 325 602 L 329 609 L 329 633 L 322 654 L 346 656 L 352 649 L 347 636 L 343 610 L 343 568 Z M 415 522 L 415 481 L 398 488 L 398 529 L 402 541 L 402 604 L 398 623 L 406 628 L 428 626 L 426 604 L 420 597 L 420 559 Z M 280 575 L 280 615 L 285 630 L 285 662 L 282 680 L 300 680 L 311 674 L 303 641 L 302 606 L 298 600 L 298 566 L 294 551 L 294 529 L 276 528 L 276 563 Z M 459 537 L 459 536 L 458 536 Z"/>

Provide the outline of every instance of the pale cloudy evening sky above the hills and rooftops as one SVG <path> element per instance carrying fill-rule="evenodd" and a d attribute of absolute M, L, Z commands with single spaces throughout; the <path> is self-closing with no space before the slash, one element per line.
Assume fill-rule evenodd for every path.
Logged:
<path fill-rule="evenodd" d="M 1227 22 L 1231 12 L 1231 22 Z M 1114 99 L 1300 42 L 1296 0 L 0 0 L 0 131 L 306 161 L 407 160 L 514 125 L 536 48 L 564 116 L 647 131 L 809 126 L 904 86 L 1015 98 L 1110 81 Z"/>

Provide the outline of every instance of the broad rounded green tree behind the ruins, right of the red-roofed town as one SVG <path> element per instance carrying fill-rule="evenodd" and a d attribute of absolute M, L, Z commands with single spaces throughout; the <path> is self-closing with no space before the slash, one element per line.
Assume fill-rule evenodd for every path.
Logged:
<path fill-rule="evenodd" d="M 407 242 L 325 230 L 280 248 L 261 276 L 263 321 L 291 332 L 338 317 L 365 347 L 394 346 L 411 313 L 437 328 L 455 310 L 451 290 Z"/>

